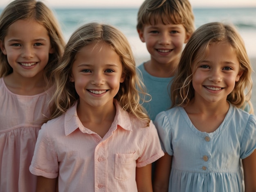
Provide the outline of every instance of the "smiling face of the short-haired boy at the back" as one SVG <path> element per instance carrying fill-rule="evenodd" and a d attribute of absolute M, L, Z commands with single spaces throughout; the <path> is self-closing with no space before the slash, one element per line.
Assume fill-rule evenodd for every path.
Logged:
<path fill-rule="evenodd" d="M 177 63 L 184 43 L 189 40 L 189 35 L 182 24 L 165 25 L 161 19 L 154 25 L 145 25 L 138 33 L 141 41 L 146 42 L 151 62 L 156 64 Z"/>

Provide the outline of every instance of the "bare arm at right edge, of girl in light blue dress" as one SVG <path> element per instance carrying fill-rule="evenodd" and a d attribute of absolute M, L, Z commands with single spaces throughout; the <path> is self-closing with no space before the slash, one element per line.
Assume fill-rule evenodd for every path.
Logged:
<path fill-rule="evenodd" d="M 243 159 L 245 192 L 256 192 L 256 150 Z"/>

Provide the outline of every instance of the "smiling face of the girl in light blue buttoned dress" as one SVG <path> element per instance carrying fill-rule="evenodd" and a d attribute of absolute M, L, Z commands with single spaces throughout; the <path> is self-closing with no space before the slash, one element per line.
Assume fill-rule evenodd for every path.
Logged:
<path fill-rule="evenodd" d="M 227 96 L 243 74 L 234 49 L 227 42 L 214 43 L 202 57 L 193 64 L 195 98 L 211 103 L 227 102 Z"/>

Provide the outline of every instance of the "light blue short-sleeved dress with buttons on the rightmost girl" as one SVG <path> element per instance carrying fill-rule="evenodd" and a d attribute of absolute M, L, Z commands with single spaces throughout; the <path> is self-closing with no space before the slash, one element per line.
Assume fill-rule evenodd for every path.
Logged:
<path fill-rule="evenodd" d="M 164 152 L 173 156 L 169 192 L 242 192 L 240 159 L 256 149 L 256 118 L 230 104 L 216 131 L 200 132 L 184 108 L 155 118 Z"/>

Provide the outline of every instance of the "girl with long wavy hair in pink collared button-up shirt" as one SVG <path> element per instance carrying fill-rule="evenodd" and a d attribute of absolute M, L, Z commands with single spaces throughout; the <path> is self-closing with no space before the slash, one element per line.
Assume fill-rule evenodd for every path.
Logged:
<path fill-rule="evenodd" d="M 164 153 L 139 104 L 143 84 L 123 33 L 83 25 L 52 77 L 53 119 L 42 126 L 30 165 L 38 191 L 56 183 L 60 192 L 152 191 L 151 163 Z"/>

